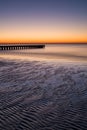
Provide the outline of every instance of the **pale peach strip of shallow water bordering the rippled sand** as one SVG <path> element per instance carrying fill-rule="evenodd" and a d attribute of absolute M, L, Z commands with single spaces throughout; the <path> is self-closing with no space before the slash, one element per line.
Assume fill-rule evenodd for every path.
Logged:
<path fill-rule="evenodd" d="M 19 61 L 38 61 L 38 62 L 48 62 L 48 63 L 61 63 L 61 64 L 87 64 L 86 60 L 79 60 L 79 59 L 63 59 L 63 58 L 51 58 L 51 57 L 44 57 L 44 56 L 39 56 L 38 58 L 35 55 L 21 55 L 20 53 L 15 54 L 13 53 L 3 53 L 0 54 L 1 59 L 8 59 L 8 60 L 19 60 Z"/>

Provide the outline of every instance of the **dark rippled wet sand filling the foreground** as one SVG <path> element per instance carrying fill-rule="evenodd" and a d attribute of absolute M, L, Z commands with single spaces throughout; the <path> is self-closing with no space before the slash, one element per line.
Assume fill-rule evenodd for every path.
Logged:
<path fill-rule="evenodd" d="M 0 130 L 87 130 L 87 65 L 0 60 Z"/>

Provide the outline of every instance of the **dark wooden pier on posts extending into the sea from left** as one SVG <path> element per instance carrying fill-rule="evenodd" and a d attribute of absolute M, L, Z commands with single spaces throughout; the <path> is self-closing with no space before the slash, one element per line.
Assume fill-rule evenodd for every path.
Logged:
<path fill-rule="evenodd" d="M 23 49 L 41 49 L 41 48 L 45 48 L 45 45 L 28 45 L 28 44 L 0 45 L 0 50 L 23 50 Z"/>

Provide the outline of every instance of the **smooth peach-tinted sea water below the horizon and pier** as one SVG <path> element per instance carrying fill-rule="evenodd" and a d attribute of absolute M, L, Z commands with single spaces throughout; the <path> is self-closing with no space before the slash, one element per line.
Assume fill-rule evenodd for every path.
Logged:
<path fill-rule="evenodd" d="M 35 60 L 39 58 L 39 60 L 87 61 L 87 45 L 46 45 L 45 49 L 1 51 L 0 57 L 3 56 Z"/>

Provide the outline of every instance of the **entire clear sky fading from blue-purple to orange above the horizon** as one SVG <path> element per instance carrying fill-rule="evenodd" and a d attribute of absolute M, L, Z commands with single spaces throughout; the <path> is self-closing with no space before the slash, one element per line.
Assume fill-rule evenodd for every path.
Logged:
<path fill-rule="evenodd" d="M 87 42 L 87 0 L 0 0 L 0 43 Z"/>

